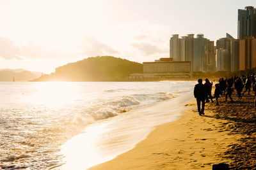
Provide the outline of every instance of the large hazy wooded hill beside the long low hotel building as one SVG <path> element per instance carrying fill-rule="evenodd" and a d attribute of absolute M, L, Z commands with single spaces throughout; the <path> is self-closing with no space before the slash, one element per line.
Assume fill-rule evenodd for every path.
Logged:
<path fill-rule="evenodd" d="M 138 62 L 111 56 L 89 57 L 57 67 L 54 73 L 32 81 L 124 81 L 131 73 L 143 73 Z"/>

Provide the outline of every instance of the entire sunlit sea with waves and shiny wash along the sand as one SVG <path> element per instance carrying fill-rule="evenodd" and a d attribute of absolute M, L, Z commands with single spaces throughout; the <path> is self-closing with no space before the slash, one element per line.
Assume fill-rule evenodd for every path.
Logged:
<path fill-rule="evenodd" d="M 0 82 L 0 167 L 86 169 L 113 159 L 175 120 L 194 85 Z"/>

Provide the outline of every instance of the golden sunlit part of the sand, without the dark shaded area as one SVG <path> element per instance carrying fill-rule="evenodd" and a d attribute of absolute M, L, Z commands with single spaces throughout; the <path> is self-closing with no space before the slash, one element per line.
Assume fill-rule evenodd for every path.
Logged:
<path fill-rule="evenodd" d="M 188 110 L 179 120 L 157 126 L 129 152 L 90 169 L 211 169 L 220 162 L 232 164 L 227 150 L 243 137 L 232 132 L 234 122 L 216 115 L 214 103 L 206 104 L 203 117 L 195 100 L 185 106 Z"/>

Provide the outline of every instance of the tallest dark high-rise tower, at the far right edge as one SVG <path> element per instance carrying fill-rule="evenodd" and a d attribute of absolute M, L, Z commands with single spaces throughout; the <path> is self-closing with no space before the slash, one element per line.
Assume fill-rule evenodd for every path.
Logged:
<path fill-rule="evenodd" d="M 244 10 L 238 10 L 237 38 L 244 36 L 256 36 L 256 9 L 246 6 Z"/>

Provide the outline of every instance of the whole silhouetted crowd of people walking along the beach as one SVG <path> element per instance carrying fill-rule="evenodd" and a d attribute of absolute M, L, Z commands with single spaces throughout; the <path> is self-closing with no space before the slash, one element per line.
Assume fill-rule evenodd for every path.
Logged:
<path fill-rule="evenodd" d="M 204 106 L 205 103 L 209 103 L 209 99 L 213 103 L 213 98 L 216 99 L 216 106 L 219 105 L 218 99 L 221 96 L 225 96 L 225 101 L 230 99 L 230 103 L 234 103 L 232 99 L 232 93 L 234 90 L 237 91 L 237 99 L 242 99 L 244 93 L 253 91 L 256 96 L 256 83 L 255 83 L 255 74 L 248 76 L 234 76 L 231 78 L 220 78 L 215 84 L 214 96 L 212 97 L 212 81 L 210 82 L 207 78 L 203 84 L 203 80 L 199 79 L 198 84 L 195 85 L 194 96 L 196 98 L 196 103 L 198 106 L 199 115 L 204 115 Z M 244 91 L 243 91 L 244 90 Z M 255 100 L 256 103 L 256 100 Z M 202 107 L 200 106 L 202 104 Z"/>

